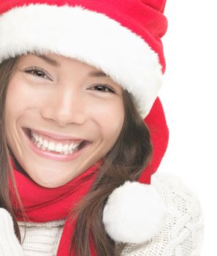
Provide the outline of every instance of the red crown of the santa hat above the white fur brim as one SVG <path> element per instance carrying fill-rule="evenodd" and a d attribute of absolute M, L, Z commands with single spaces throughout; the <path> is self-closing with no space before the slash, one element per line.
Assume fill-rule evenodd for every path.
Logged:
<path fill-rule="evenodd" d="M 0 1 L 0 14 L 24 4 L 80 5 L 85 9 L 104 13 L 144 39 L 159 55 L 164 72 L 166 64 L 161 37 L 167 31 L 167 18 L 163 15 L 166 0 L 7 0 Z"/>

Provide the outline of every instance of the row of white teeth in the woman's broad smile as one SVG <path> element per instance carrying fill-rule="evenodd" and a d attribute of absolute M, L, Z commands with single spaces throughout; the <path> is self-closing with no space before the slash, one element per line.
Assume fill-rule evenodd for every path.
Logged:
<path fill-rule="evenodd" d="M 48 142 L 43 140 L 39 135 L 35 135 L 31 131 L 31 140 L 37 145 L 38 148 L 42 148 L 47 151 L 56 151 L 63 154 L 72 154 L 80 145 L 80 143 L 62 144 L 54 143 L 53 141 Z"/>

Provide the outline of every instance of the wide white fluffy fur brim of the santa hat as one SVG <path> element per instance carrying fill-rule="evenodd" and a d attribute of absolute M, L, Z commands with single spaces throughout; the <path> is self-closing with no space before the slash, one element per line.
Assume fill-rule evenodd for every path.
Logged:
<path fill-rule="evenodd" d="M 0 16 L 0 38 L 0 63 L 36 50 L 101 69 L 134 95 L 143 118 L 161 89 L 158 54 L 139 35 L 99 12 L 68 5 L 16 7 Z"/>

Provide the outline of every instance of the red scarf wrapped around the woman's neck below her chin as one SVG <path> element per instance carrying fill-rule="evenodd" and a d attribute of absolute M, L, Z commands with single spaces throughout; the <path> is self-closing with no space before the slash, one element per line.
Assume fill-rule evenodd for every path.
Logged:
<path fill-rule="evenodd" d="M 90 189 L 98 173 L 96 169 L 99 167 L 99 162 L 61 187 L 45 188 L 39 186 L 34 181 L 31 181 L 30 178 L 24 176 L 23 173 L 16 170 L 15 162 L 12 160 L 12 157 L 10 160 L 15 181 L 18 186 L 18 192 L 29 221 L 50 222 L 66 218 L 57 256 L 69 255 L 69 246 L 72 240 L 72 231 L 75 228 L 75 222 L 70 224 L 67 215 L 73 208 L 73 204 L 79 201 L 88 192 L 88 189 Z M 14 206 L 18 207 L 15 201 L 12 203 Z M 19 210 L 20 208 L 18 208 L 18 211 Z M 23 218 L 19 214 L 17 215 L 17 219 L 18 221 L 23 221 Z M 91 256 L 95 256 L 96 252 L 91 239 L 90 244 Z"/>

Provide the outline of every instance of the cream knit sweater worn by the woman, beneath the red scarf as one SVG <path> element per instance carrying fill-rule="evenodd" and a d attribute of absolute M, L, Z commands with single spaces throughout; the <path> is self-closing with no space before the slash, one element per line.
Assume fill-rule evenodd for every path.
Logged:
<path fill-rule="evenodd" d="M 199 256 L 204 218 L 197 195 L 170 173 L 155 173 L 152 184 L 169 207 L 167 223 L 158 236 L 144 244 L 126 244 L 121 256 Z M 23 222 L 18 222 L 21 237 Z M 27 223 L 23 242 L 25 256 L 55 256 L 64 220 Z M 120 246 L 120 243 L 117 243 Z"/>

